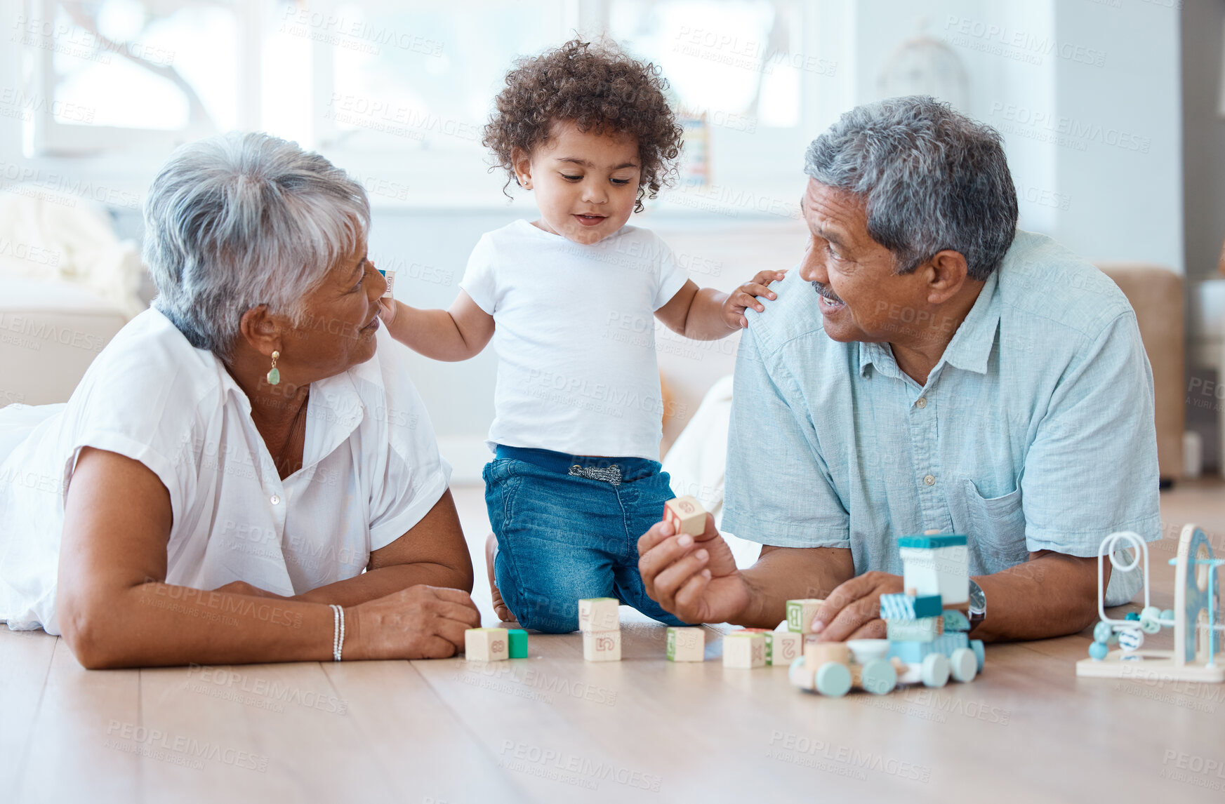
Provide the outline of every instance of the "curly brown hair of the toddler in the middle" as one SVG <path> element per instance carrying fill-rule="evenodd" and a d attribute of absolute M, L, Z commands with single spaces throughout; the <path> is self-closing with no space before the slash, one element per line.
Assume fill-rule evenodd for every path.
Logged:
<path fill-rule="evenodd" d="M 510 174 L 503 192 L 511 181 L 518 182 L 514 152 L 530 154 L 548 142 L 554 121 L 566 120 L 582 132 L 637 140 L 642 173 L 633 210 L 642 212 L 644 196 L 654 198 L 671 184 L 681 153 L 684 130 L 664 97 L 668 81 L 662 72 L 606 40 L 571 39 L 555 50 L 517 60 L 481 138 L 494 152 L 490 170 L 502 168 Z"/>

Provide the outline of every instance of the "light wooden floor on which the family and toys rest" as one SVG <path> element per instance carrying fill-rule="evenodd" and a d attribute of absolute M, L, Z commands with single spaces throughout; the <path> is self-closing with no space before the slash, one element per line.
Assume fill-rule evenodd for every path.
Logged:
<path fill-rule="evenodd" d="M 1225 553 L 1223 488 L 1163 494 L 1167 540 L 1194 518 Z M 479 492 L 457 498 L 475 552 Z M 1171 554 L 1153 549 L 1161 606 Z M 704 663 L 670 664 L 663 627 L 621 613 L 624 661 L 601 664 L 571 634 L 533 635 L 530 658 L 489 664 L 87 672 L 56 638 L 0 629 L 0 802 L 1225 795 L 1225 685 L 1078 679 L 1088 635 L 989 646 L 971 684 L 833 700 L 782 668 L 724 669 L 723 628 L 707 629 Z"/>

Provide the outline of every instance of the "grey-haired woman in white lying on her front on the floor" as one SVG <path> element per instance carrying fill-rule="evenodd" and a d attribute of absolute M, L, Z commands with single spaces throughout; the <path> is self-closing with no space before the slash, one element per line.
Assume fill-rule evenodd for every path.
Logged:
<path fill-rule="evenodd" d="M 228 135 L 170 158 L 145 224 L 153 307 L 66 405 L 0 411 L 0 620 L 91 668 L 453 655 L 472 564 L 377 349 L 361 186 Z"/>

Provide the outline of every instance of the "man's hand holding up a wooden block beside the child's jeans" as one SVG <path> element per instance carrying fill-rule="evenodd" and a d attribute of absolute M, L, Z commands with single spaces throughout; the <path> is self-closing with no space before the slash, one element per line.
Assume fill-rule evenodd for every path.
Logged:
<path fill-rule="evenodd" d="M 748 584 L 709 514 L 701 536 L 677 536 L 670 523 L 652 525 L 638 540 L 638 556 L 647 595 L 686 623 L 723 623 L 748 606 Z"/>

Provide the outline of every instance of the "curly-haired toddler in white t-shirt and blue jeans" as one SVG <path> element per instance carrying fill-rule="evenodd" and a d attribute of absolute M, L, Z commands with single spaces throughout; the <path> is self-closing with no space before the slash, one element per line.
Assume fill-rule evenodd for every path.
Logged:
<path fill-rule="evenodd" d="M 723 338 L 783 277 L 760 273 L 730 295 L 699 289 L 659 237 L 627 225 L 675 173 L 681 127 L 666 87 L 611 44 L 572 40 L 518 61 L 483 143 L 507 185 L 535 195 L 539 219 L 481 236 L 448 310 L 382 311 L 397 340 L 435 360 L 494 341 L 486 558 L 499 616 L 523 628 L 572 631 L 584 597 L 681 624 L 638 574 L 638 537 L 674 497 L 657 460 L 654 319 Z"/>

